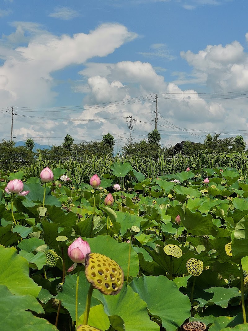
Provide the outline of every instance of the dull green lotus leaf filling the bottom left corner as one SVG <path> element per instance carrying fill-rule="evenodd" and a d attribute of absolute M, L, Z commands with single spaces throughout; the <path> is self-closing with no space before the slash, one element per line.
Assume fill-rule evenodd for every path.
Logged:
<path fill-rule="evenodd" d="M 31 295 L 14 295 L 6 286 L 0 285 L 0 328 L 8 331 L 52 331 L 58 330 L 46 319 L 34 316 L 44 313 L 38 301 Z"/>

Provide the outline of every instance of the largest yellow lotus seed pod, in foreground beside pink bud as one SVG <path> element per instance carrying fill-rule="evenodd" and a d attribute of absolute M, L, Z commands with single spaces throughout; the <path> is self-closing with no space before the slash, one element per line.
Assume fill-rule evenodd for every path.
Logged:
<path fill-rule="evenodd" d="M 85 260 L 85 274 L 88 282 L 103 294 L 115 295 L 122 289 L 123 270 L 114 260 L 105 255 L 88 254 Z"/>

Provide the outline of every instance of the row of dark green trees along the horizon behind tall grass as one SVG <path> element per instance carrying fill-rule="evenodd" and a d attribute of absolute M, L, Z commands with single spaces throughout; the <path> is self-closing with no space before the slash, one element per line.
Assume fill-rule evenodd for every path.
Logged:
<path fill-rule="evenodd" d="M 181 144 L 182 145 L 182 144 Z M 82 141 L 74 143 L 74 138 L 67 134 L 61 145 L 53 145 L 50 148 L 34 149 L 34 141 L 28 138 L 25 146 L 15 146 L 15 142 L 11 140 L 3 140 L 0 143 L 0 166 L 3 169 L 13 168 L 15 165 L 23 163 L 32 163 L 37 158 L 42 160 L 83 160 L 85 156 L 97 155 L 99 157 L 113 156 L 114 152 L 114 137 L 108 132 L 103 135 L 102 141 Z M 220 134 L 206 135 L 203 143 L 194 143 L 189 140 L 183 142 L 183 147 L 178 151 L 173 146 L 162 147 L 161 135 L 158 130 L 149 132 L 147 140 L 143 139 L 140 142 L 125 143 L 122 146 L 120 154 L 130 157 L 152 158 L 157 160 L 160 155 L 164 157 L 175 156 L 176 153 L 182 153 L 185 156 L 197 154 L 200 151 L 208 152 L 243 152 L 245 150 L 245 142 L 242 136 L 237 135 L 230 138 L 220 138 Z"/>

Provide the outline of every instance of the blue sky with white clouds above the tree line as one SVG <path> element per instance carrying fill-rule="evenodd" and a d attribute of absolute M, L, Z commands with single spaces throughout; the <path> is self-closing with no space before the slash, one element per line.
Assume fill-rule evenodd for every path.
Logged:
<path fill-rule="evenodd" d="M 16 140 L 109 131 L 118 150 L 127 116 L 133 141 L 154 128 L 157 93 L 162 145 L 218 132 L 248 142 L 247 10 L 245 0 L 2 1 L 0 137 L 13 106 Z"/>

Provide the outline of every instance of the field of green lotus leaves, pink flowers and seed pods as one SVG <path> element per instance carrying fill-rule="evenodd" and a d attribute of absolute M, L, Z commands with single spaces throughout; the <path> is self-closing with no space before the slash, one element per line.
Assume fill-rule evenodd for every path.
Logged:
<path fill-rule="evenodd" d="M 1 330 L 248 330 L 245 174 L 0 177 Z"/>

